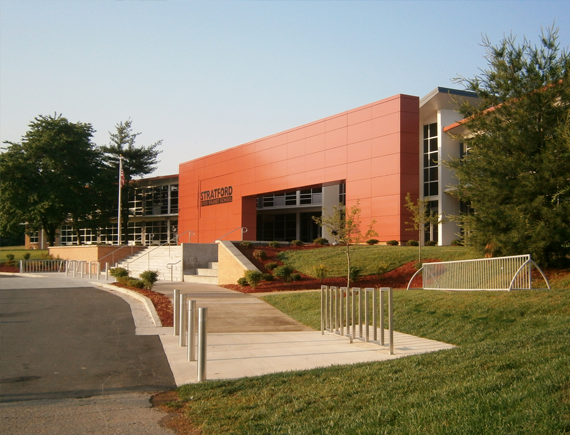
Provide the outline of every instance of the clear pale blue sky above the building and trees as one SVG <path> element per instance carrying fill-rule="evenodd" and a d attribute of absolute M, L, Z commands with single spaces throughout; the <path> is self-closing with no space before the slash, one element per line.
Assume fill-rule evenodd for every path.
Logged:
<path fill-rule="evenodd" d="M 153 175 L 395 94 L 485 68 L 482 35 L 539 42 L 564 1 L 0 0 L 0 139 L 38 115 L 109 142 L 132 119 L 163 139 Z"/>

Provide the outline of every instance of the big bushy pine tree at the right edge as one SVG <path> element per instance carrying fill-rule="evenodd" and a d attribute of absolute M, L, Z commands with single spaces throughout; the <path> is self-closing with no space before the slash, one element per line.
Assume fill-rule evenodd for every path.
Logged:
<path fill-rule="evenodd" d="M 487 69 L 456 79 L 480 98 L 461 106 L 468 153 L 445 163 L 474 209 L 462 216 L 466 242 L 544 265 L 570 252 L 570 56 L 557 38 L 548 29 L 539 46 L 483 40 Z"/>

